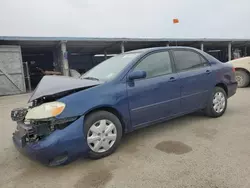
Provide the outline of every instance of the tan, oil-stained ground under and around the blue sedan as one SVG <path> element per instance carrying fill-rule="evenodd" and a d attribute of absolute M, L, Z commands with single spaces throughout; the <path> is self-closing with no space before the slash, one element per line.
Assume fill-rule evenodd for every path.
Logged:
<path fill-rule="evenodd" d="M 250 187 L 250 88 L 238 89 L 223 117 L 200 114 L 126 135 L 111 156 L 48 168 L 19 154 L 10 110 L 28 95 L 0 98 L 0 187 Z"/>

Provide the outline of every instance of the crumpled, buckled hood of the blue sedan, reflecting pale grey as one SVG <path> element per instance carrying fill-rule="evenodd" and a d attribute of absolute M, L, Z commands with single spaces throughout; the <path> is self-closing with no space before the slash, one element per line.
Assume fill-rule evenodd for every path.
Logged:
<path fill-rule="evenodd" d="M 64 91 L 102 84 L 101 81 L 72 78 L 66 76 L 44 76 L 32 93 L 29 102 Z"/>

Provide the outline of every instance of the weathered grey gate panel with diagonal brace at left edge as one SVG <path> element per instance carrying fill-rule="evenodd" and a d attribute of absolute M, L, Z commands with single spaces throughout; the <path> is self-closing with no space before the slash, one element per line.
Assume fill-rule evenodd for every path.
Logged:
<path fill-rule="evenodd" d="M 0 95 L 26 92 L 20 46 L 0 46 Z"/>

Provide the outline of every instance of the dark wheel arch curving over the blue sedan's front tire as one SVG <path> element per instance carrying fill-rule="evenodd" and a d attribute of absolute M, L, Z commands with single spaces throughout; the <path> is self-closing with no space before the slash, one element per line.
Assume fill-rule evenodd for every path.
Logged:
<path fill-rule="evenodd" d="M 125 121 L 122 118 L 121 113 L 112 106 L 97 106 L 97 107 L 94 107 L 94 108 L 92 108 L 91 110 L 89 110 L 88 112 L 85 113 L 85 117 L 87 117 L 90 114 L 92 114 L 94 112 L 97 112 L 97 111 L 107 111 L 107 112 L 110 112 L 110 113 L 114 114 L 120 120 L 120 122 L 122 124 L 122 133 L 124 134 L 126 132 L 126 124 L 125 124 Z"/>

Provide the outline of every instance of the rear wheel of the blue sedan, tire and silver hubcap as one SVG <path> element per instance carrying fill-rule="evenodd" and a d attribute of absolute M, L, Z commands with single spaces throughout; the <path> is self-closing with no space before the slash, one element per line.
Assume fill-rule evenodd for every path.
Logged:
<path fill-rule="evenodd" d="M 220 96 L 224 97 L 224 103 L 223 103 L 223 98 Z M 215 107 L 216 101 L 221 102 L 221 104 L 218 104 L 219 102 L 217 103 L 218 104 L 217 108 Z M 211 95 L 208 101 L 207 107 L 205 108 L 205 114 L 209 117 L 217 118 L 222 116 L 225 113 L 226 109 L 227 109 L 227 94 L 223 88 L 215 87 L 213 94 Z"/>

